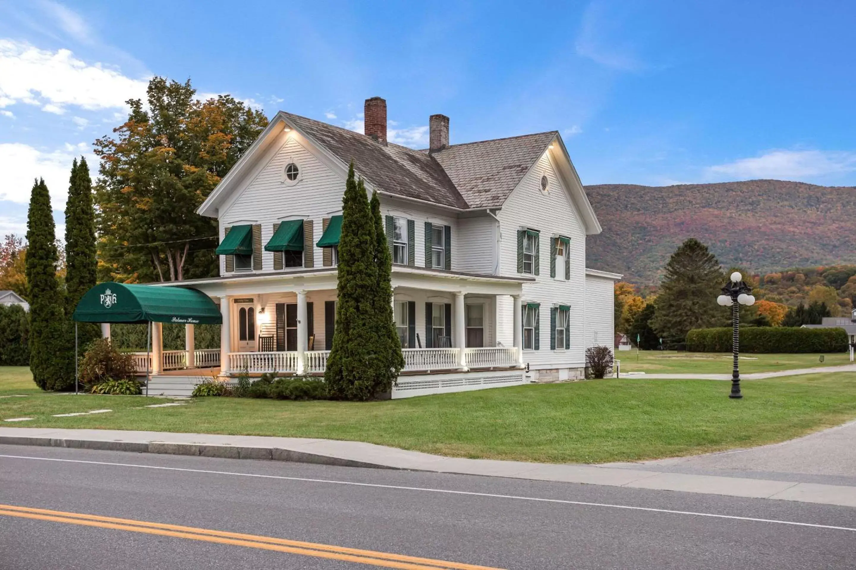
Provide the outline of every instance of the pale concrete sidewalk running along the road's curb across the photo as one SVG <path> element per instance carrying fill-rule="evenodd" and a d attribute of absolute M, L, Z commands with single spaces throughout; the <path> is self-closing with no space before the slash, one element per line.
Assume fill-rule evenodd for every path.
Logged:
<path fill-rule="evenodd" d="M 0 427 L 0 444 L 301 461 L 345 467 L 462 473 L 856 507 L 856 485 L 829 485 L 801 481 L 794 477 L 788 477 L 791 480 L 779 480 L 728 477 L 721 474 L 674 473 L 670 472 L 669 468 L 657 468 L 651 463 L 638 466 L 597 466 L 462 459 L 329 439 Z"/>

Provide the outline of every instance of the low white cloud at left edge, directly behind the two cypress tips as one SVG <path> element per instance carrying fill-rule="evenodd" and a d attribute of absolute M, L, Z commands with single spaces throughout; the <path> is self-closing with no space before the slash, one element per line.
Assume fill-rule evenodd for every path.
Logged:
<path fill-rule="evenodd" d="M 98 159 L 92 156 L 88 144 L 68 144 L 62 149 L 44 151 L 28 144 L 0 144 L 0 200 L 29 203 L 33 179 L 44 178 L 51 191 L 53 209 L 65 209 L 68 195 L 68 176 L 75 156 L 86 156 L 90 172 L 97 167 Z"/>

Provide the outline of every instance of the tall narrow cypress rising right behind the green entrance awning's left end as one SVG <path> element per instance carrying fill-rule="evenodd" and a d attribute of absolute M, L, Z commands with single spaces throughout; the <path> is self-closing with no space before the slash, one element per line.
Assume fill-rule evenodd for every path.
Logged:
<path fill-rule="evenodd" d="M 71 315 L 80 297 L 96 284 L 98 262 L 95 259 L 95 211 L 92 209 L 92 179 L 86 158 L 71 166 L 68 202 L 65 204 L 65 314 L 69 326 L 69 343 L 74 349 L 74 323 Z M 100 332 L 95 323 L 80 323 L 78 342 L 85 347 Z"/>

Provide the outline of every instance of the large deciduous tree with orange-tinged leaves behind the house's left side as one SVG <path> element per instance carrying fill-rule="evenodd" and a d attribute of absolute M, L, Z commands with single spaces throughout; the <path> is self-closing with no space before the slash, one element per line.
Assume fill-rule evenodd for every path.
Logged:
<path fill-rule="evenodd" d="M 186 83 L 149 82 L 147 106 L 99 138 L 96 189 L 101 277 L 180 280 L 217 273 L 217 221 L 196 214 L 205 197 L 267 126 L 228 95 L 201 102 Z"/>

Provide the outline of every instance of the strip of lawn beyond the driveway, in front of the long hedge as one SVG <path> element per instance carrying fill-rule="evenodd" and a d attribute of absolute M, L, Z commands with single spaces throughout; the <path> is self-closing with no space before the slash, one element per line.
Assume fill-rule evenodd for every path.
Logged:
<path fill-rule="evenodd" d="M 823 355 L 740 355 L 740 372 L 776 372 L 796 368 L 840 366 L 850 364 L 846 352 Z M 730 374 L 731 353 L 676 352 L 675 350 L 619 350 L 621 372 Z"/>

